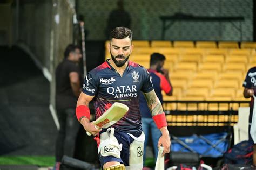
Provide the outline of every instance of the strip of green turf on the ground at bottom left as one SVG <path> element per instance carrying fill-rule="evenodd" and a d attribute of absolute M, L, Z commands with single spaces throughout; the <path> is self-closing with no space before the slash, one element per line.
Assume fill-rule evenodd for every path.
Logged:
<path fill-rule="evenodd" d="M 46 156 L 2 156 L 0 165 L 38 165 L 53 166 L 55 157 Z"/>

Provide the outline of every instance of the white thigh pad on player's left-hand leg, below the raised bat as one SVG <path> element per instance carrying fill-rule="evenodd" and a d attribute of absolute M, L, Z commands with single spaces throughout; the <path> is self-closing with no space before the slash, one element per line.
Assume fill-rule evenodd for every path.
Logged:
<path fill-rule="evenodd" d="M 113 156 L 120 158 L 122 146 L 122 144 L 118 143 L 117 138 L 114 137 L 114 128 L 109 128 L 106 132 L 100 134 L 98 153 L 103 157 Z"/>

